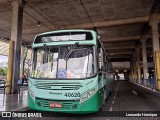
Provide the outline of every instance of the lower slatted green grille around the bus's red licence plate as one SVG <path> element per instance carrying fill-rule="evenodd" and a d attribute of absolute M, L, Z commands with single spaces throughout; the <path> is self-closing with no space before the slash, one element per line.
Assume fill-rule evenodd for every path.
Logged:
<path fill-rule="evenodd" d="M 52 109 L 50 108 L 50 102 L 60 103 L 62 108 L 54 108 L 54 109 L 76 109 L 78 106 L 79 100 L 50 100 L 50 99 L 42 99 L 36 98 L 36 105 L 41 108 Z"/>

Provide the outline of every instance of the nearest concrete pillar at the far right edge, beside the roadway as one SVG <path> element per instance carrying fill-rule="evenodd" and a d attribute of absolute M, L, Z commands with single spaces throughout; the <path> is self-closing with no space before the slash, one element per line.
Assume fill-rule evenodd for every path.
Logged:
<path fill-rule="evenodd" d="M 151 26 L 151 32 L 152 32 L 152 45 L 153 45 L 153 60 L 154 60 L 154 69 L 155 69 L 155 80 L 156 80 L 156 88 L 158 88 L 158 82 L 157 82 L 157 62 L 156 62 L 156 55 L 155 52 L 159 52 L 159 33 L 158 33 L 158 24 L 159 24 L 159 19 L 158 19 L 158 14 L 155 13 L 152 15 L 151 21 L 150 21 L 150 26 Z"/>

